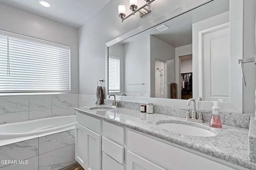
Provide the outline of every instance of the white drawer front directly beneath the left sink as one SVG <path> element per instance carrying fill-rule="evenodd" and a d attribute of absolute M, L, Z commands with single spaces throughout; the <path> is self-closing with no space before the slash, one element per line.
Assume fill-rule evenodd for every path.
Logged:
<path fill-rule="evenodd" d="M 100 119 L 76 112 L 76 122 L 88 127 L 88 129 L 91 129 L 92 131 L 100 133 Z"/>

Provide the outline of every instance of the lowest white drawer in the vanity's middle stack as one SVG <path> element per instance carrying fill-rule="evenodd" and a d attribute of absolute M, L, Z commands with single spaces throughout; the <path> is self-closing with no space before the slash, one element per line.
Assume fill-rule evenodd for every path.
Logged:
<path fill-rule="evenodd" d="M 103 152 L 102 170 L 124 170 L 124 165 L 119 164 Z"/>

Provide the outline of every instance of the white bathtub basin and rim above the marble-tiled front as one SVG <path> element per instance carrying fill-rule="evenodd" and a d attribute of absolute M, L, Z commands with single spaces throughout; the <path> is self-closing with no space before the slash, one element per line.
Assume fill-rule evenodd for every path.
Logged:
<path fill-rule="evenodd" d="M 76 116 L 60 116 L 8 123 L 0 125 L 0 140 L 29 137 L 59 131 L 61 129 L 74 129 Z"/>

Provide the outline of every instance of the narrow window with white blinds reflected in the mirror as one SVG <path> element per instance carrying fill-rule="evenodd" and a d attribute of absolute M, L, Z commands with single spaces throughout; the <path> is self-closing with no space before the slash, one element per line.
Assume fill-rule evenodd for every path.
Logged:
<path fill-rule="evenodd" d="M 120 92 L 120 58 L 108 56 L 108 91 Z"/>

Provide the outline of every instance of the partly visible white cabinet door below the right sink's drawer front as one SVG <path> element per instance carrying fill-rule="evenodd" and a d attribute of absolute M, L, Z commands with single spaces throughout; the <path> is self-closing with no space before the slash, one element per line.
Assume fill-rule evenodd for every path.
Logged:
<path fill-rule="evenodd" d="M 127 151 L 127 170 L 166 170 L 153 162 Z"/>

